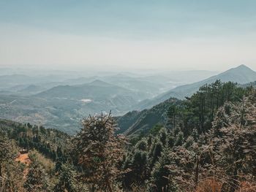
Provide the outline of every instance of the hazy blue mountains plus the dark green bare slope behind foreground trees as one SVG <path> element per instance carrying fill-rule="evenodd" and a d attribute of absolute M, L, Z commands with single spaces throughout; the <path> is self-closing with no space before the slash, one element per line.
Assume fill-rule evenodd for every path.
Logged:
<path fill-rule="evenodd" d="M 15 75 L 12 77 L 15 78 Z M 173 84 L 171 78 L 166 76 L 129 77 L 114 74 L 53 82 L 42 77 L 32 81 L 31 77 L 18 75 L 18 80 L 20 82 L 12 80 L 11 76 L 0 77 L 0 82 L 8 82 L 12 86 L 0 92 L 0 118 L 74 133 L 83 117 L 111 110 L 113 115 L 120 116 L 118 122 L 122 122 L 121 131 L 126 130 L 129 134 L 138 128 L 162 123 L 165 120 L 165 106 L 176 99 L 191 96 L 201 85 L 215 80 L 244 85 L 256 80 L 256 72 L 241 65 L 206 80 L 176 88 L 172 87 L 178 82 Z M 169 91 L 161 93 L 168 88 Z M 157 93 L 158 96 L 154 97 Z"/>

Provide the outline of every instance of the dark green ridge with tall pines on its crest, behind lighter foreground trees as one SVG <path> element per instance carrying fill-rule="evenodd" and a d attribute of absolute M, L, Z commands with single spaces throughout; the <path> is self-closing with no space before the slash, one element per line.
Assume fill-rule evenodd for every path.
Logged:
<path fill-rule="evenodd" d="M 147 132 L 157 125 L 167 128 L 175 127 L 174 118 L 174 121 L 177 119 L 176 125 L 180 124 L 179 126 L 183 128 L 200 126 L 201 132 L 206 131 L 217 109 L 225 101 L 241 99 L 246 94 L 246 89 L 249 88 L 240 88 L 236 83 L 217 80 L 210 85 L 203 85 L 186 100 L 167 99 L 149 110 L 129 112 L 117 119 L 118 126 L 124 134 L 129 135 L 135 132 Z"/>

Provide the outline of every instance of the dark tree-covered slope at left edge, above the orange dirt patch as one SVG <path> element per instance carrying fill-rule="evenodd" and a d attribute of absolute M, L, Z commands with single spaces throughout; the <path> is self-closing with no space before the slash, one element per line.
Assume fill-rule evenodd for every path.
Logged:
<path fill-rule="evenodd" d="M 42 126 L 25 125 L 11 120 L 0 120 L 0 131 L 12 139 L 17 147 L 29 150 L 38 150 L 47 158 L 56 161 L 62 158 L 71 137 L 56 129 L 44 128 Z"/>

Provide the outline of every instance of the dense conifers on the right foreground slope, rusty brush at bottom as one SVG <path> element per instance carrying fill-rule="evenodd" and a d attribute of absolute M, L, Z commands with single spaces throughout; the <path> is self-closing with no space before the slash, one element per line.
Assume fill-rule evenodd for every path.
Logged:
<path fill-rule="evenodd" d="M 162 126 L 138 139 L 132 137 L 135 144 L 124 161 L 125 169 L 131 170 L 124 177 L 126 188 L 255 191 L 256 92 L 238 88 L 229 98 L 225 90 L 223 104 L 204 97 L 201 91 L 206 87 L 187 100 L 189 111 L 170 108 L 167 125 L 172 128 Z M 202 99 L 207 107 L 196 102 Z"/>

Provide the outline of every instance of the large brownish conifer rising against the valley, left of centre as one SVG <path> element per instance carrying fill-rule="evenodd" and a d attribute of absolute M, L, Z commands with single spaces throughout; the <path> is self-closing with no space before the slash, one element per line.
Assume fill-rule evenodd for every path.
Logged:
<path fill-rule="evenodd" d="M 116 135 L 116 123 L 111 115 L 96 115 L 83 120 L 83 128 L 74 139 L 81 176 L 86 183 L 113 191 L 113 182 L 121 173 L 117 164 L 124 154 L 125 139 Z"/>

